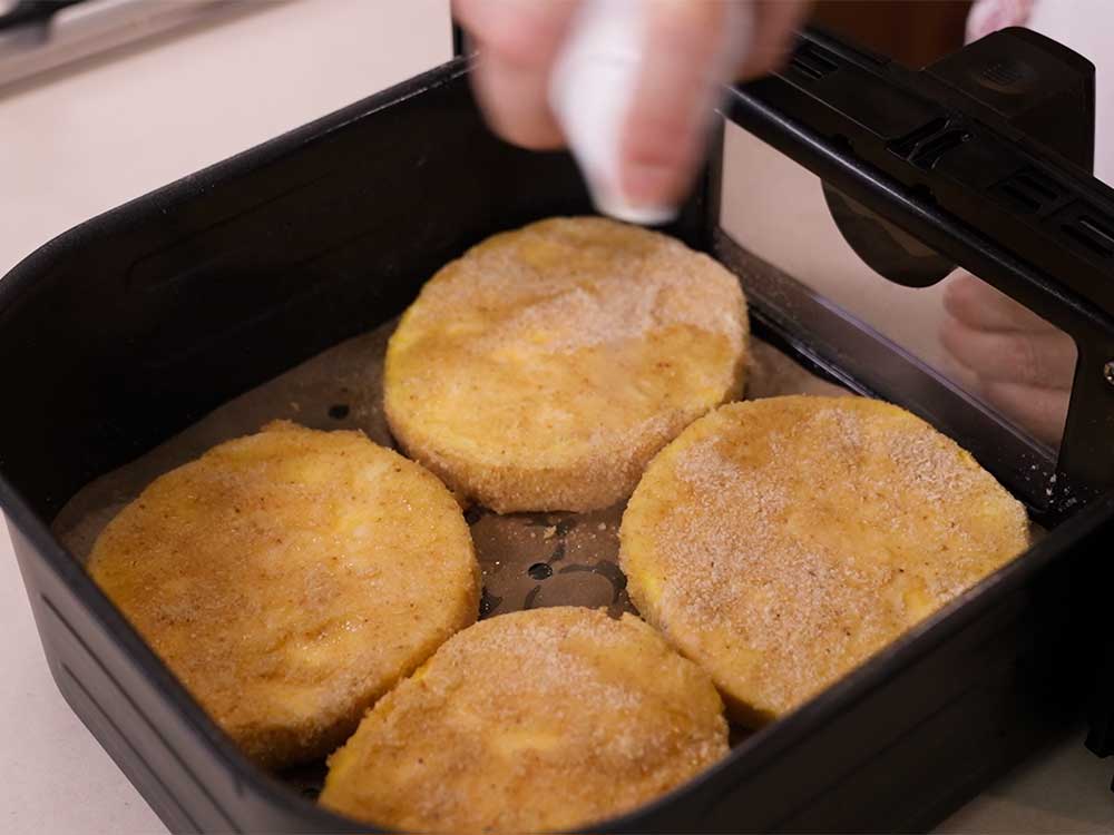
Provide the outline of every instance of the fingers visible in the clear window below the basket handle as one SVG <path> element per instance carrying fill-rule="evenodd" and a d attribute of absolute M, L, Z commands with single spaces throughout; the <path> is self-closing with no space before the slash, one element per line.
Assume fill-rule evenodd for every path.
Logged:
<path fill-rule="evenodd" d="M 1072 337 L 969 273 L 944 291 L 944 347 L 976 393 L 1037 439 L 1059 445 L 1072 395 Z"/>

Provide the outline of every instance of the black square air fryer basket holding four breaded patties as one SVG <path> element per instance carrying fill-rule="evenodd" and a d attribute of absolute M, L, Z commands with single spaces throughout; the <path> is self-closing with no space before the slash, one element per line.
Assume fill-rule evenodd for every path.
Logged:
<path fill-rule="evenodd" d="M 94 218 L 0 284 L 0 503 L 43 649 L 74 710 L 174 832 L 367 827 L 247 763 L 51 521 L 95 478 L 395 316 L 481 238 L 592 210 L 567 155 L 485 128 L 468 66 L 457 59 Z M 719 151 L 668 232 L 741 275 L 758 335 L 932 422 L 1049 532 L 714 768 L 593 831 L 922 829 L 1085 710 L 1092 747 L 1111 750 L 1100 679 L 1114 193 L 1088 173 L 1093 114 L 1094 68 L 1024 30 L 919 72 L 805 35 L 784 71 L 733 91 L 726 119 L 822 177 L 879 272 L 917 285 L 961 265 L 1075 338 L 1058 454 L 737 246 L 720 226 Z M 895 227 L 931 254 L 902 249 Z"/>

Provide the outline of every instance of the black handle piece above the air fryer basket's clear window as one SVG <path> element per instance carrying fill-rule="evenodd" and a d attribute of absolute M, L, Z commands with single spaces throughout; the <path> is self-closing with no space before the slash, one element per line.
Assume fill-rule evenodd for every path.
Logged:
<path fill-rule="evenodd" d="M 1058 469 L 1076 497 L 1114 487 L 1114 191 L 1088 170 L 1088 61 L 1009 29 L 913 71 L 810 31 L 725 116 L 1071 334 Z"/>

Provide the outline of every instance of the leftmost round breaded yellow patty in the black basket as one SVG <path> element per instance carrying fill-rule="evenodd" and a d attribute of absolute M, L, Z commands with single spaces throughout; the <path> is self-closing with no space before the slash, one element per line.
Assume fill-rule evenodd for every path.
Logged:
<path fill-rule="evenodd" d="M 155 480 L 89 572 L 265 767 L 329 754 L 479 607 L 468 525 L 434 475 L 291 423 Z"/>

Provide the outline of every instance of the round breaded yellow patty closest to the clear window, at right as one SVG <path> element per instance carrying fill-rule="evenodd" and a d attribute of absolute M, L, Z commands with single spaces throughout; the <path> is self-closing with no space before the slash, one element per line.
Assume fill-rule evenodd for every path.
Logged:
<path fill-rule="evenodd" d="M 722 406 L 627 504 L 638 611 L 760 725 L 1029 543 L 1025 508 L 919 418 L 864 397 Z"/>

